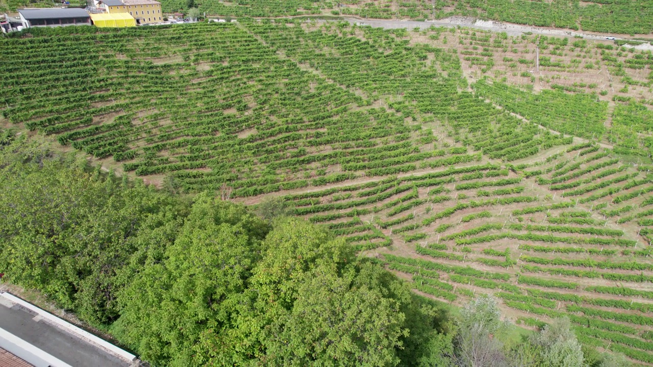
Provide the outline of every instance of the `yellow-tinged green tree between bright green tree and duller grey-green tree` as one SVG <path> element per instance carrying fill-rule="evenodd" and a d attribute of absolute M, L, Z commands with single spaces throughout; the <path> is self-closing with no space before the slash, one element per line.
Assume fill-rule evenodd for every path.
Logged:
<path fill-rule="evenodd" d="M 343 240 L 296 218 L 277 222 L 259 253 L 247 289 L 233 298 L 234 324 L 223 332 L 220 323 L 209 321 L 200 336 L 198 348 L 210 366 L 276 360 L 266 357 L 266 343 L 272 343 L 270 328 L 291 313 L 301 296 L 300 287 L 310 279 L 308 274 L 317 268 L 339 274 L 354 261 L 351 247 Z"/>

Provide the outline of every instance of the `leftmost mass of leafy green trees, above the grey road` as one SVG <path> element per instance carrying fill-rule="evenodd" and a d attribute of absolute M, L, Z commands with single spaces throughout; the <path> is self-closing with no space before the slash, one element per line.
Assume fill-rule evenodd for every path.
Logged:
<path fill-rule="evenodd" d="M 7 146 L 0 167 L 0 272 L 91 323 L 116 319 L 114 277 L 135 250 L 130 236 L 178 201 L 53 157 L 39 140 Z"/>

